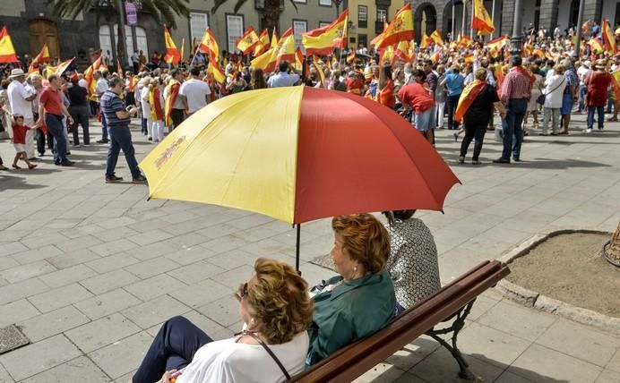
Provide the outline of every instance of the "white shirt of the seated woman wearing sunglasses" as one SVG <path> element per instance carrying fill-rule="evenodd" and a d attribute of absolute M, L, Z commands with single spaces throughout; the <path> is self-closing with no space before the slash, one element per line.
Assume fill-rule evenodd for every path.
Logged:
<path fill-rule="evenodd" d="M 276 383 L 285 380 L 278 364 L 262 345 L 235 343 L 229 338 L 203 345 L 177 378 L 177 383 Z M 290 376 L 304 370 L 310 341 L 306 331 L 290 342 L 268 345 Z"/>

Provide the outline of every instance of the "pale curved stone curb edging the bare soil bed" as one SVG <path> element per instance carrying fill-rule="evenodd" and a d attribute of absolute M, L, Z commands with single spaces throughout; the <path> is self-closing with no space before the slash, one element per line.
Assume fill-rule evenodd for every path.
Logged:
<path fill-rule="evenodd" d="M 549 230 L 547 233 L 534 234 L 525 242 L 519 246 L 508 251 L 502 258 L 502 262 L 510 264 L 512 260 L 522 257 L 530 250 L 538 246 L 538 244 L 560 234 L 572 234 L 572 233 L 586 233 L 586 234 L 608 234 L 611 233 L 591 230 L 587 228 L 569 228 L 563 230 Z M 506 279 L 503 279 L 495 285 L 495 288 L 511 301 L 521 303 L 527 307 L 533 307 L 540 311 L 550 312 L 552 314 L 559 315 L 566 319 L 574 320 L 575 322 L 589 325 L 595 328 L 599 328 L 609 333 L 620 335 L 620 319 L 609 317 L 601 314 L 597 311 L 591 311 L 583 309 L 581 307 L 573 306 L 572 304 L 561 302 L 553 298 L 549 298 L 546 295 L 539 294 L 535 291 L 531 291 L 520 285 L 515 285 Z"/>

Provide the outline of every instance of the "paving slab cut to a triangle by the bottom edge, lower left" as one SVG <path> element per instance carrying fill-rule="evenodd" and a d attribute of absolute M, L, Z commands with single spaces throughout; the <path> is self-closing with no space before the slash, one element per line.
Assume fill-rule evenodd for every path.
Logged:
<path fill-rule="evenodd" d="M 90 362 L 85 356 L 81 356 L 29 379 L 22 380 L 21 383 L 64 383 L 71 381 L 107 383 L 109 380 L 108 375 L 100 370 L 95 363 Z"/>

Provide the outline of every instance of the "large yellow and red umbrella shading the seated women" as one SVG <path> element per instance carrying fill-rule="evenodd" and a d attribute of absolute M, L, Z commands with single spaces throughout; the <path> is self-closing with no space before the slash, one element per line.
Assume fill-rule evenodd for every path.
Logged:
<path fill-rule="evenodd" d="M 297 224 L 396 209 L 442 210 L 459 180 L 392 109 L 357 95 L 287 87 L 221 98 L 140 167 L 149 198 L 245 209 Z"/>

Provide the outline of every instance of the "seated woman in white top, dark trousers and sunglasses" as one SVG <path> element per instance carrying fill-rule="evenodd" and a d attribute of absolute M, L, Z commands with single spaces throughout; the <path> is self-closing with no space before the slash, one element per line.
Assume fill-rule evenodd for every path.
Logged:
<path fill-rule="evenodd" d="M 129 382 L 269 383 L 303 370 L 314 309 L 308 285 L 277 260 L 258 259 L 254 270 L 235 294 L 242 333 L 213 341 L 183 317 L 168 319 Z"/>

